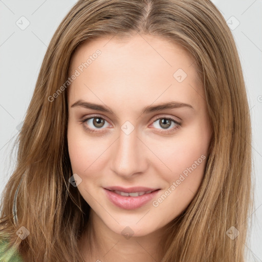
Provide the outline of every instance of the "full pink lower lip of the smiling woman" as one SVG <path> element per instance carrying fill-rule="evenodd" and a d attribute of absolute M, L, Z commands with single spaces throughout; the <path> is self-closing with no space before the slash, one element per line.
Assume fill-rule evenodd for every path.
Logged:
<path fill-rule="evenodd" d="M 103 190 L 105 191 L 107 198 L 113 204 L 115 204 L 117 207 L 127 210 L 136 209 L 145 205 L 152 198 L 154 198 L 156 194 L 160 191 L 159 189 L 149 194 L 139 195 L 138 197 L 125 197 L 124 195 L 117 194 L 105 188 L 103 188 Z"/>

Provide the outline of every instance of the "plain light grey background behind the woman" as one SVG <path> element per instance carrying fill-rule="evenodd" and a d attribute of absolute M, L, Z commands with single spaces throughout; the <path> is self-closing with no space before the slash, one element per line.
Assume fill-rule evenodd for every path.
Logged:
<path fill-rule="evenodd" d="M 256 209 L 249 218 L 252 234 L 247 261 L 262 262 L 262 1 L 213 2 L 232 30 L 247 85 Z M 75 3 L 76 0 L 0 0 L 0 193 L 14 169 L 10 150 L 24 120 L 43 56 L 62 18 Z M 27 20 L 30 25 L 25 30 L 16 25 L 25 26 Z"/>

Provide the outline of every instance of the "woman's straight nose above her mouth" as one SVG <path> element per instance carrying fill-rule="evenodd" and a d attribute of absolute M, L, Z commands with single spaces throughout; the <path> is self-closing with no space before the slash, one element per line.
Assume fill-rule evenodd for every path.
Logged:
<path fill-rule="evenodd" d="M 142 174 L 148 166 L 147 150 L 138 137 L 136 128 L 128 135 L 120 130 L 112 151 L 113 172 L 126 179 L 135 174 Z"/>

